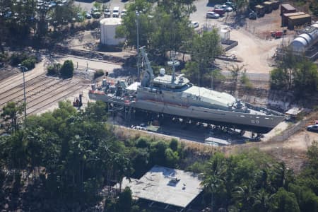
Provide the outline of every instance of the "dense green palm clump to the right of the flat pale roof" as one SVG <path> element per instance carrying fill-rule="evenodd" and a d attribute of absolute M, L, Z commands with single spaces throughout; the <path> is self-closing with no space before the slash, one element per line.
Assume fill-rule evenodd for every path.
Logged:
<path fill-rule="evenodd" d="M 317 143 L 309 151 L 313 152 L 317 155 Z M 317 156 L 312 156 L 310 161 L 315 157 Z M 201 168 L 204 169 L 202 184 L 211 198 L 206 201 L 215 209 L 317 211 L 318 198 L 312 192 L 314 186 L 300 186 L 300 182 L 308 179 L 295 177 L 293 171 L 283 163 L 278 163 L 263 153 L 252 151 L 229 158 L 217 153 Z M 315 168 L 317 167 L 311 164 L 308 171 L 317 171 Z M 315 180 L 317 181 L 317 177 L 312 177 L 309 181 L 312 183 Z"/>

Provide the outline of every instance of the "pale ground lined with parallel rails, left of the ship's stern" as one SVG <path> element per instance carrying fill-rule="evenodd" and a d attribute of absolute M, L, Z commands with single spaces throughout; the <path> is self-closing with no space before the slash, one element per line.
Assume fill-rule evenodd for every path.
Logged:
<path fill-rule="evenodd" d="M 61 80 L 47 77 L 43 63 L 25 73 L 27 114 L 37 114 L 84 88 L 81 79 Z M 16 73 L 0 81 L 0 109 L 7 102 L 23 102 L 23 73 Z"/>

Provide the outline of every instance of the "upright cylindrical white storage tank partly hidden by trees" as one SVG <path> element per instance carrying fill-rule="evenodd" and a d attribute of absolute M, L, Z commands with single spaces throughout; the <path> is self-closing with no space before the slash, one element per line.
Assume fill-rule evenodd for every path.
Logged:
<path fill-rule="evenodd" d="M 117 26 L 122 24 L 122 18 L 104 18 L 100 20 L 100 42 L 105 45 L 119 45 L 124 38 L 115 38 Z"/>

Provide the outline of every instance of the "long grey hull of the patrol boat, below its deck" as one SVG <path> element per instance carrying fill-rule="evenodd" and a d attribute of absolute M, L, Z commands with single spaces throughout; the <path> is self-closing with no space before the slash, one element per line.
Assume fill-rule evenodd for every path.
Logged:
<path fill-rule="evenodd" d="M 230 112 L 206 107 L 197 107 L 194 105 L 175 105 L 155 100 L 137 99 L 129 101 L 121 98 L 112 98 L 111 95 L 90 94 L 90 98 L 108 103 L 115 103 L 117 105 L 129 105 L 129 107 L 158 114 L 168 114 L 174 117 L 189 118 L 192 120 L 204 120 L 211 124 L 236 127 L 237 129 L 244 129 L 257 133 L 267 133 L 285 119 L 283 116 Z"/>

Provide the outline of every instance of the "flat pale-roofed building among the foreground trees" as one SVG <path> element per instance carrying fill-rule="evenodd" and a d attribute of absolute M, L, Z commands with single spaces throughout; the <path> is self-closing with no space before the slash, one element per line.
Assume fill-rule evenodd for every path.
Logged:
<path fill-rule="evenodd" d="M 182 211 L 202 192 L 200 184 L 194 172 L 155 165 L 140 179 L 124 178 L 122 189 L 129 187 L 134 199 L 150 201 L 150 205 L 160 203 L 165 209 L 171 206 Z M 119 184 L 114 187 L 119 189 Z"/>

